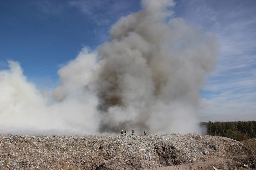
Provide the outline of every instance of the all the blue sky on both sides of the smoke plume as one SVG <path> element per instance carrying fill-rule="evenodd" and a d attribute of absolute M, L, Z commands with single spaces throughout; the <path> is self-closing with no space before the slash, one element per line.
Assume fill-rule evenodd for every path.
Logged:
<path fill-rule="evenodd" d="M 216 70 L 200 89 L 200 119 L 256 120 L 256 1 L 176 2 L 174 17 L 214 32 L 220 44 Z M 84 46 L 106 41 L 111 25 L 140 9 L 138 0 L 0 1 L 0 69 L 16 60 L 29 81 L 52 89 L 61 66 Z"/>

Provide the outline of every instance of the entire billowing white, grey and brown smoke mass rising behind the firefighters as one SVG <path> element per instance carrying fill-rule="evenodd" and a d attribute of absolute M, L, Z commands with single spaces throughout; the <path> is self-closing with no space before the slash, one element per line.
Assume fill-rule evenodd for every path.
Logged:
<path fill-rule="evenodd" d="M 9 61 L 10 69 L 0 71 L 0 132 L 200 132 L 199 88 L 215 66 L 218 45 L 215 36 L 173 18 L 172 6 L 142 0 L 141 11 L 111 28 L 108 42 L 82 49 L 58 71 L 52 95 Z"/>

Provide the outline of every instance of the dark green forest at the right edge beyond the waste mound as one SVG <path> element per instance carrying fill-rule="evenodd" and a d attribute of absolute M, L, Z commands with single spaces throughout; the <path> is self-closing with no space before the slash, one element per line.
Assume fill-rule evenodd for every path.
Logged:
<path fill-rule="evenodd" d="M 207 135 L 224 136 L 242 141 L 256 137 L 256 121 L 238 122 L 200 122 L 200 126 L 207 129 Z"/>

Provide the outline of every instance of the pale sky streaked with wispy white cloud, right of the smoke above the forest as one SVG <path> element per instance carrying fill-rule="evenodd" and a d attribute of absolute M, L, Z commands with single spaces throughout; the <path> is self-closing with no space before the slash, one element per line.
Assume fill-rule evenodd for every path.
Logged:
<path fill-rule="evenodd" d="M 179 1 L 183 17 L 192 25 L 214 32 L 220 44 L 216 70 L 202 90 L 200 118 L 256 119 L 255 1 Z"/>

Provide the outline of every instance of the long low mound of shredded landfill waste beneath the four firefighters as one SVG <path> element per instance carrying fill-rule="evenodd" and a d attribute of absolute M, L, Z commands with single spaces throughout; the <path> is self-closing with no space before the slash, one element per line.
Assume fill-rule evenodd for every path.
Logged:
<path fill-rule="evenodd" d="M 0 135 L 0 169 L 146 169 L 243 155 L 242 143 L 195 134 Z"/>

